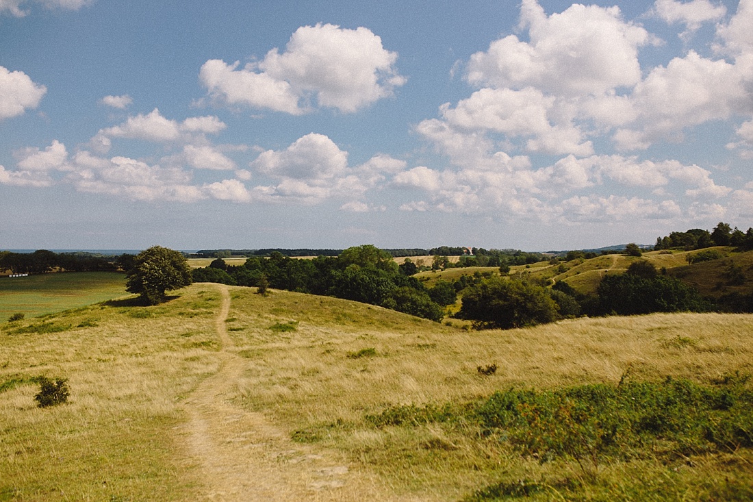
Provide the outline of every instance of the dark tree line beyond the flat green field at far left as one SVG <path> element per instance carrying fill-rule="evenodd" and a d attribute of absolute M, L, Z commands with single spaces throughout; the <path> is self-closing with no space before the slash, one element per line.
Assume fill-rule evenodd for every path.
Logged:
<path fill-rule="evenodd" d="M 0 271 L 9 271 L 11 274 L 45 274 L 52 271 L 108 272 L 125 270 L 130 259 L 133 259 L 133 256 L 53 253 L 47 249 L 38 249 L 34 253 L 0 251 Z"/>

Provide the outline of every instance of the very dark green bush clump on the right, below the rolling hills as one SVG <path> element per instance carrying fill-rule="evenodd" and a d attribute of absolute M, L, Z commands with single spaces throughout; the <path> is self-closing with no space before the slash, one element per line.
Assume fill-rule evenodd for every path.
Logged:
<path fill-rule="evenodd" d="M 691 286 L 663 275 L 645 279 L 631 274 L 607 275 L 596 290 L 602 314 L 703 312 L 708 305 Z M 595 312 L 594 314 L 598 314 Z"/>

